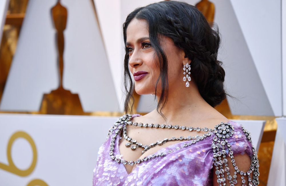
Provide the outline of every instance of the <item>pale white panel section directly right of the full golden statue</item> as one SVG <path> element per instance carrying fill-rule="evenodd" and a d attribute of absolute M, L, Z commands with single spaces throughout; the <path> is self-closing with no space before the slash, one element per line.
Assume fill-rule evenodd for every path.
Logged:
<path fill-rule="evenodd" d="M 86 112 L 118 112 L 118 99 L 92 1 L 61 2 L 68 14 L 63 86 L 80 95 Z"/>

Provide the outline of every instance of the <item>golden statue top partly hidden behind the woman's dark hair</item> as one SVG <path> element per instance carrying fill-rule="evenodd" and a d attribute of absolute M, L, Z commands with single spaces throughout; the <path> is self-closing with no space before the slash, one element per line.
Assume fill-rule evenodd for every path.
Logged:
<path fill-rule="evenodd" d="M 208 0 L 201 0 L 196 3 L 196 8 L 202 12 L 210 27 L 213 25 L 214 17 L 215 17 L 215 4 Z"/>

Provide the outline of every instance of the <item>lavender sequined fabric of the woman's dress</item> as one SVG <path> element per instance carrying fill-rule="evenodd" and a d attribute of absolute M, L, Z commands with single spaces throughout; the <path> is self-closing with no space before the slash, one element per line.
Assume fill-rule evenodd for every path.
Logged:
<path fill-rule="evenodd" d="M 135 116 L 140 116 L 140 114 L 133 114 L 132 118 Z M 229 121 L 229 123 L 234 128 L 233 135 L 228 138 L 233 155 L 247 153 L 251 157 L 253 155 L 252 144 L 247 140 L 243 128 L 234 121 Z M 126 172 L 122 163 L 112 160 L 109 155 L 113 135 L 108 136 L 106 142 L 102 144 L 98 151 L 97 164 L 93 175 L 94 186 L 212 185 L 212 167 L 214 163 L 212 142 L 215 134 L 209 135 L 189 146 L 185 144 L 191 141 L 182 141 L 163 148 L 155 154 L 166 153 L 164 157 L 150 158 L 148 161 L 134 165 L 135 167 L 130 174 Z M 116 158 L 124 158 L 119 154 L 118 137 L 120 135 L 115 138 L 114 155 Z M 227 153 L 229 153 L 228 150 Z M 230 164 L 229 166 L 232 166 Z"/>

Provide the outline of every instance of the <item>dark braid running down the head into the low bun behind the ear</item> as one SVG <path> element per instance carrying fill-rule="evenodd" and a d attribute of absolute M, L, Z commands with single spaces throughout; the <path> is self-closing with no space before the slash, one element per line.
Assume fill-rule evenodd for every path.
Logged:
<path fill-rule="evenodd" d="M 184 50 L 186 57 L 192 61 L 192 79 L 196 82 L 204 100 L 214 107 L 226 98 L 223 88 L 225 71 L 221 67 L 222 62 L 217 60 L 220 44 L 219 32 L 209 29 L 216 44 L 210 51 L 194 37 L 190 28 L 185 27 L 179 18 L 174 17 L 178 16 L 166 15 L 171 32 L 165 32 L 165 35 L 171 37 L 174 43 Z"/>

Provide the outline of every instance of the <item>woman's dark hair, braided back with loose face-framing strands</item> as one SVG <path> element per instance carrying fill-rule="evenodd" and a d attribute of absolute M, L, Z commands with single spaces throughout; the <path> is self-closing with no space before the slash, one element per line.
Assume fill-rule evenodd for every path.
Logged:
<path fill-rule="evenodd" d="M 148 23 L 149 38 L 152 48 L 159 59 L 161 69 L 156 83 L 161 78 L 162 94 L 160 96 L 157 112 L 161 111 L 168 99 L 167 58 L 160 46 L 159 36 L 170 37 L 174 44 L 184 50 L 185 57 L 191 60 L 192 80 L 195 81 L 200 95 L 212 107 L 220 104 L 227 94 L 224 90 L 225 71 L 222 62 L 217 60 L 220 45 L 219 29 L 212 29 L 204 15 L 194 6 L 178 1 L 161 1 L 132 11 L 123 24 L 124 43 L 126 44 L 126 29 L 132 19 L 144 19 Z M 124 86 L 127 92 L 124 111 L 132 113 L 134 105 L 134 84 L 128 68 L 128 49 L 124 58 Z M 128 88 L 129 86 L 129 88 Z M 232 96 L 231 96 L 232 97 Z M 131 108 L 130 98 L 133 99 Z M 164 116 L 163 116 L 164 117 Z M 165 117 L 164 117 L 165 118 Z"/>

